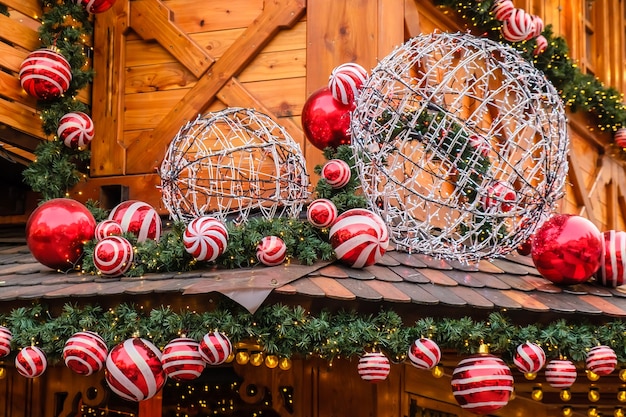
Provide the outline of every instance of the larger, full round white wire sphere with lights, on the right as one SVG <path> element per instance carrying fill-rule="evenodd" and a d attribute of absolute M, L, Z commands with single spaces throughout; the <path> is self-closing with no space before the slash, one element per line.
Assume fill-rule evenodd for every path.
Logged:
<path fill-rule="evenodd" d="M 398 248 L 475 262 L 524 243 L 567 175 L 558 92 L 509 46 L 415 37 L 374 68 L 352 114 L 356 166 Z"/>

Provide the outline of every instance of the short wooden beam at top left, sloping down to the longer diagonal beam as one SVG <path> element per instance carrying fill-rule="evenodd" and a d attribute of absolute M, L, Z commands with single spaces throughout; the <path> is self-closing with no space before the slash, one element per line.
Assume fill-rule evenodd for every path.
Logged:
<path fill-rule="evenodd" d="M 130 26 L 144 40 L 155 39 L 196 77 L 215 62 L 173 21 L 173 13 L 159 0 L 130 2 Z"/>

